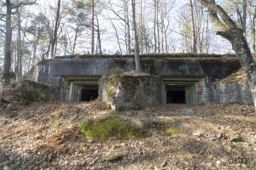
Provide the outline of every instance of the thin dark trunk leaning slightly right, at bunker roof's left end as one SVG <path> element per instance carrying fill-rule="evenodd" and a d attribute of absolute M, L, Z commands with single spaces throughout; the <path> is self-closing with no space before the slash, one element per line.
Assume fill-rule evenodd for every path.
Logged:
<path fill-rule="evenodd" d="M 54 35 L 53 39 L 51 42 L 51 51 L 50 51 L 50 58 L 54 58 L 55 56 L 55 43 L 57 41 L 57 35 L 58 35 L 58 29 L 60 25 L 60 11 L 61 11 L 61 0 L 58 0 L 58 6 L 57 6 L 57 13 L 56 13 L 56 18 L 55 18 L 55 30 L 54 30 Z"/>

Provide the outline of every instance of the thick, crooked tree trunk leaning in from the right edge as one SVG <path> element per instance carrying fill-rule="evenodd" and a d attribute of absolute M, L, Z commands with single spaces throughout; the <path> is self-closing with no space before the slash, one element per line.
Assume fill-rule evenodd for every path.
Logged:
<path fill-rule="evenodd" d="M 256 107 L 256 65 L 243 35 L 243 30 L 236 26 L 236 22 L 214 0 L 199 0 L 199 2 L 209 9 L 212 24 L 215 26 L 217 34 L 231 42 L 232 48 L 239 57 L 241 68 L 247 75 L 247 82 Z"/>

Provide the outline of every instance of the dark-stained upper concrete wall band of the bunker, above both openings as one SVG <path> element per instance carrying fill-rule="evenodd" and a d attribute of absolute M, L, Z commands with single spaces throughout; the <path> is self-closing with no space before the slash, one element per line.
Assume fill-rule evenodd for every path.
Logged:
<path fill-rule="evenodd" d="M 215 56 L 215 55 L 214 55 Z M 237 71 L 241 66 L 234 56 L 207 58 L 143 58 L 143 72 L 157 76 L 169 77 L 213 77 L 222 78 Z M 61 76 L 103 76 L 112 68 L 121 68 L 125 71 L 134 70 L 132 57 L 113 58 L 96 57 L 82 59 L 49 59 L 38 64 L 38 82 L 47 82 L 58 85 Z"/>

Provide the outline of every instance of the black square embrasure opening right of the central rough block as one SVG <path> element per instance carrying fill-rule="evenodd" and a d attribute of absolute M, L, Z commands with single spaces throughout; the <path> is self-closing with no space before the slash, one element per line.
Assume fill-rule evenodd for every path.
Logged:
<path fill-rule="evenodd" d="M 186 104 L 186 90 L 184 87 L 166 87 L 167 104 Z"/>

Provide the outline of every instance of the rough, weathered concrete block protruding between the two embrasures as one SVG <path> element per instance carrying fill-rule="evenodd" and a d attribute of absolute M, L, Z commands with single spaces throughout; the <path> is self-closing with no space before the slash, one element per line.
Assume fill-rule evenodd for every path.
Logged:
<path fill-rule="evenodd" d="M 113 111 L 140 110 L 165 103 L 165 86 L 160 77 L 120 74 L 101 79 L 102 100 Z"/>

